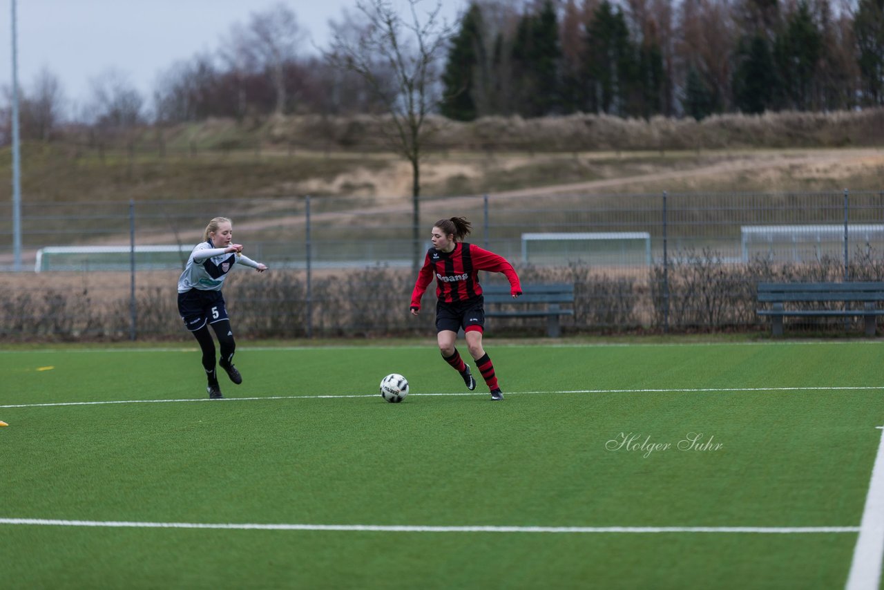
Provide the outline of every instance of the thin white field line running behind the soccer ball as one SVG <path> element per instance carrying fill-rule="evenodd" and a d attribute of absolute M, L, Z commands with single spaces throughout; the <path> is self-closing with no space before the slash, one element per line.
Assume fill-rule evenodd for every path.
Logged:
<path fill-rule="evenodd" d="M 555 394 L 697 394 L 714 392 L 758 392 L 758 391 L 865 391 L 880 390 L 884 386 L 832 386 L 832 387 L 699 387 L 692 389 L 569 389 L 565 391 L 510 391 L 507 395 L 555 395 Z M 427 393 L 411 394 L 418 397 L 448 397 L 462 395 L 488 395 L 485 393 Z M 210 400 L 208 397 L 178 400 L 112 400 L 107 402 L 47 402 L 18 403 L 0 405 L 4 408 L 50 408 L 56 406 L 97 406 L 110 403 L 179 403 L 179 402 L 251 402 L 258 400 L 337 400 L 360 397 L 377 397 L 378 394 L 341 395 L 265 395 L 262 397 L 225 397 L 223 400 Z"/>

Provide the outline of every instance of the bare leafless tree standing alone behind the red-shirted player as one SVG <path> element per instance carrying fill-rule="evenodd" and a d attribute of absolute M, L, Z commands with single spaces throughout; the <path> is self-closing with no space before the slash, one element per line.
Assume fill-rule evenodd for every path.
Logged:
<path fill-rule="evenodd" d="M 389 0 L 357 0 L 366 26 L 358 38 L 335 33 L 331 50 L 324 53 L 332 65 L 359 74 L 385 105 L 395 128 L 393 147 L 411 164 L 412 238 L 414 266 L 421 264 L 420 195 L 421 157 L 428 131 L 427 116 L 441 98 L 439 60 L 452 35 L 437 2 L 431 11 L 418 11 L 421 0 L 407 0 L 408 19 L 403 19 Z M 387 85 L 385 72 L 395 83 Z"/>

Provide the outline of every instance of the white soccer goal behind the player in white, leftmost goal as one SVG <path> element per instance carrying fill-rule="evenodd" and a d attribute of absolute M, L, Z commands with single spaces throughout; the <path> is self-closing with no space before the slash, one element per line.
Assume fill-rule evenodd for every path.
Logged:
<path fill-rule="evenodd" d="M 135 246 L 138 270 L 181 269 L 194 246 Z M 131 246 L 50 246 L 37 250 L 34 272 L 128 271 Z"/>

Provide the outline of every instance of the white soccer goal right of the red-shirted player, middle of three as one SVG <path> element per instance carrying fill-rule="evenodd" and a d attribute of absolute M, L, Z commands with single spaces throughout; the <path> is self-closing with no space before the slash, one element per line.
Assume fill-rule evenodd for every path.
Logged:
<path fill-rule="evenodd" d="M 526 264 L 583 263 L 609 266 L 650 265 L 648 232 L 522 234 Z"/>

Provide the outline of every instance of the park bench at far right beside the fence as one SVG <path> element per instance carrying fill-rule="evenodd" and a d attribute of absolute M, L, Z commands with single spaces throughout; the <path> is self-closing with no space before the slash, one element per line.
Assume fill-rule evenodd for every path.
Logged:
<path fill-rule="evenodd" d="M 859 317 L 865 318 L 865 335 L 875 335 L 875 318 L 884 315 L 876 303 L 884 301 L 884 282 L 847 283 L 758 283 L 758 303 L 770 303 L 770 309 L 757 310 L 759 316 L 773 320 L 773 335 L 782 335 L 782 318 L 789 317 Z M 794 308 L 786 304 L 844 303 L 844 309 Z M 850 309 L 851 303 L 863 303 L 862 309 Z"/>

